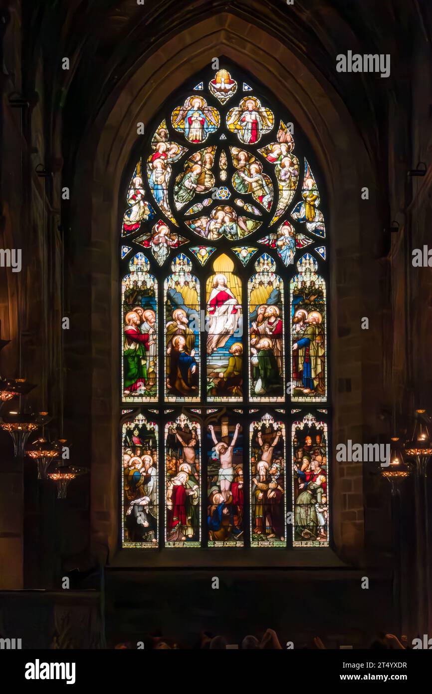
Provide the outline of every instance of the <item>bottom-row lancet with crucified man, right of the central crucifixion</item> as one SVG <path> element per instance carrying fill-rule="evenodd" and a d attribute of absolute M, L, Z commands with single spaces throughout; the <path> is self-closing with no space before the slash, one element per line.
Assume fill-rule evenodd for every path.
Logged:
<path fill-rule="evenodd" d="M 250 543 L 286 547 L 285 425 L 270 414 L 250 425 Z"/>

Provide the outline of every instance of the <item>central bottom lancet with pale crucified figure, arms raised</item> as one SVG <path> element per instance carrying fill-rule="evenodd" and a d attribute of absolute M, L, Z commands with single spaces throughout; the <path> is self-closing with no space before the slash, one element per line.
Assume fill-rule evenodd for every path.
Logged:
<path fill-rule="evenodd" d="M 226 416 L 207 428 L 207 546 L 243 547 L 243 432 Z"/>

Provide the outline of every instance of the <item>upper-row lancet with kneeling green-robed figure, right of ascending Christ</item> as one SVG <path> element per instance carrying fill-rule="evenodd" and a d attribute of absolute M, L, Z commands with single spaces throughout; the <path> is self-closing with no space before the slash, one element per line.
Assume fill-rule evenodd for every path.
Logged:
<path fill-rule="evenodd" d="M 284 284 L 268 253 L 248 282 L 250 400 L 284 400 Z"/>

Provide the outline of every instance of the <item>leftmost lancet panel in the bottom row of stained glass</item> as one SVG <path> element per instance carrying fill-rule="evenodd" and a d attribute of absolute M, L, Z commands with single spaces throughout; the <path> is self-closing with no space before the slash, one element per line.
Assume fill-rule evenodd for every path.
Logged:
<path fill-rule="evenodd" d="M 157 424 L 138 414 L 122 427 L 122 546 L 157 548 Z"/>

